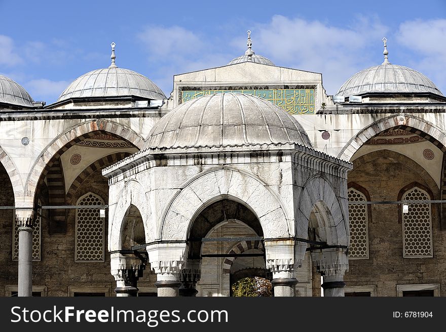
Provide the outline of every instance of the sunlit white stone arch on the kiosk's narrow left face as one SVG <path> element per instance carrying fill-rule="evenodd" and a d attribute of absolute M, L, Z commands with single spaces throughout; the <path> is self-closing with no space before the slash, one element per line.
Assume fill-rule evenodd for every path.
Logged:
<path fill-rule="evenodd" d="M 129 180 L 118 195 L 117 203 L 108 206 L 108 250 L 122 249 L 122 231 L 124 216 L 130 205 L 134 205 L 142 218 L 145 232 L 145 243 L 154 240 L 156 225 L 151 221 L 150 205 L 145 196 L 146 190 L 136 180 Z"/>

